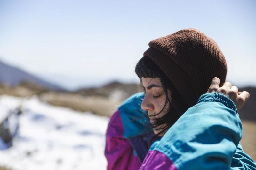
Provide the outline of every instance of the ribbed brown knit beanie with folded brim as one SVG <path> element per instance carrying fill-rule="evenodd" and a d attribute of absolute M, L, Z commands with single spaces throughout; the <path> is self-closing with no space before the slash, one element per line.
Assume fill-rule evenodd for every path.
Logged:
<path fill-rule="evenodd" d="M 214 40 L 196 29 L 183 29 L 149 42 L 144 56 L 171 80 L 189 107 L 207 92 L 212 78 L 226 80 L 227 63 Z"/>

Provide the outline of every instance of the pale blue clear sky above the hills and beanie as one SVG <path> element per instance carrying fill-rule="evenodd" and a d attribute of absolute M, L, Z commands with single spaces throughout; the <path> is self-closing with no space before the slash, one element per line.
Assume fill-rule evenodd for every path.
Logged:
<path fill-rule="evenodd" d="M 0 1 L 0 59 L 69 89 L 138 82 L 148 42 L 196 28 L 214 39 L 227 81 L 256 85 L 256 1 Z"/>

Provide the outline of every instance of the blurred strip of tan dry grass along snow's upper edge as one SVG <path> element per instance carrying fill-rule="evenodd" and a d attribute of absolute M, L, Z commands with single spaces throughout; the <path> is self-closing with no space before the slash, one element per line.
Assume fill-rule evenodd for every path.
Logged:
<path fill-rule="evenodd" d="M 73 110 L 110 117 L 121 101 L 111 100 L 104 96 L 83 96 L 71 92 L 51 92 L 40 88 L 27 88 L 26 86 L 9 86 L 0 84 L 0 95 L 7 94 L 16 97 L 29 97 L 37 95 L 42 101 L 54 106 L 69 107 Z"/>

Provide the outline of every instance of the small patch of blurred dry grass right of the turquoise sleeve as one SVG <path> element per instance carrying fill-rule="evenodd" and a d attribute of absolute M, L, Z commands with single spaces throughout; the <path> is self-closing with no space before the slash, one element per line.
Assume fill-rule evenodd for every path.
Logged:
<path fill-rule="evenodd" d="M 244 152 L 256 161 L 256 122 L 242 120 L 243 137 L 241 140 Z"/>

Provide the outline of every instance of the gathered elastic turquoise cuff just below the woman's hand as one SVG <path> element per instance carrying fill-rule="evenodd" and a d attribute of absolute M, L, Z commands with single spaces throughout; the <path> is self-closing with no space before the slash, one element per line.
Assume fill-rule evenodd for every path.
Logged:
<path fill-rule="evenodd" d="M 216 93 L 216 92 L 202 94 L 197 99 L 196 104 L 204 102 L 204 101 L 220 102 L 220 103 L 224 104 L 226 107 L 233 109 L 237 113 L 237 108 L 236 108 L 235 103 L 230 98 L 225 96 L 224 94 L 220 94 L 220 93 Z"/>

